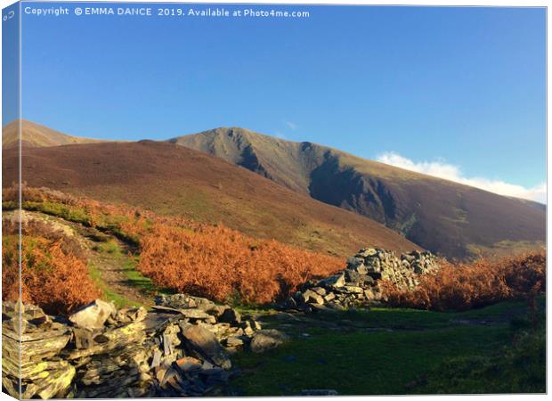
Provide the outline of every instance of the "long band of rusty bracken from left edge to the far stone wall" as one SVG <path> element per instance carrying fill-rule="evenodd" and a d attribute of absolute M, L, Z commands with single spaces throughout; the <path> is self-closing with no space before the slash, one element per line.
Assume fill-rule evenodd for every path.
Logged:
<path fill-rule="evenodd" d="M 256 240 L 224 225 L 158 217 L 49 189 L 22 188 L 23 208 L 95 226 L 138 246 L 138 269 L 160 287 L 221 301 L 265 303 L 287 297 L 313 277 L 332 274 L 344 261 L 274 240 Z M 17 190 L 4 190 L 4 208 Z"/>

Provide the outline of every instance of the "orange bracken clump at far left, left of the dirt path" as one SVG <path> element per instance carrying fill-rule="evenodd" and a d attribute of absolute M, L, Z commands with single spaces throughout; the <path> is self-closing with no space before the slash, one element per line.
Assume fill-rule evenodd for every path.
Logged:
<path fill-rule="evenodd" d="M 67 315 L 99 297 L 76 240 L 38 221 L 21 226 L 21 242 L 18 231 L 15 221 L 3 220 L 2 299 L 19 299 L 21 291 L 24 302 Z"/>

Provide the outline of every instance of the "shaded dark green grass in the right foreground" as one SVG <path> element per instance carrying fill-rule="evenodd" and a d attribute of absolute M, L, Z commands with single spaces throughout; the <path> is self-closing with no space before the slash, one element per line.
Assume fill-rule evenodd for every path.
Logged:
<path fill-rule="evenodd" d="M 337 323 L 333 329 L 272 315 L 264 325 L 288 331 L 292 340 L 265 354 L 236 354 L 235 364 L 244 373 L 229 392 L 244 396 L 293 395 L 302 389 L 336 389 L 340 395 L 507 392 L 496 373 L 485 371 L 473 378 L 467 369 L 451 372 L 452 379 L 440 379 L 439 372 L 443 366 L 451 370 L 451 358 L 459 356 L 464 361 L 473 357 L 500 364 L 503 349 L 515 334 L 510 322 L 519 321 L 525 312 L 524 302 L 509 301 L 463 313 L 376 308 L 319 317 Z M 531 367 L 542 378 L 531 384 L 544 390 L 544 364 Z M 526 369 L 510 367 L 504 377 L 534 381 L 534 376 L 525 376 Z M 464 377 L 469 377 L 471 387 L 459 385 Z"/>

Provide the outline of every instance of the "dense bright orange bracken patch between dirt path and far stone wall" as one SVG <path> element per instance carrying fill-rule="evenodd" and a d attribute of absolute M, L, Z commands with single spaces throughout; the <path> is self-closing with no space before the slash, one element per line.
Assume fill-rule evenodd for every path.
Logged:
<path fill-rule="evenodd" d="M 287 297 L 311 277 L 335 273 L 343 261 L 278 241 L 255 241 L 222 225 L 158 223 L 142 235 L 138 268 L 175 291 L 266 303 Z"/>

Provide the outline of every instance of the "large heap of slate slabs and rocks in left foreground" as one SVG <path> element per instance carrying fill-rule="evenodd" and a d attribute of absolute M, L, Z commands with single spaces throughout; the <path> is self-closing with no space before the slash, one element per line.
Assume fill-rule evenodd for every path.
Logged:
<path fill-rule="evenodd" d="M 184 294 L 150 312 L 97 299 L 68 319 L 4 302 L 2 324 L 3 388 L 22 398 L 201 396 L 229 380 L 232 352 L 266 342 L 254 319 Z"/>

